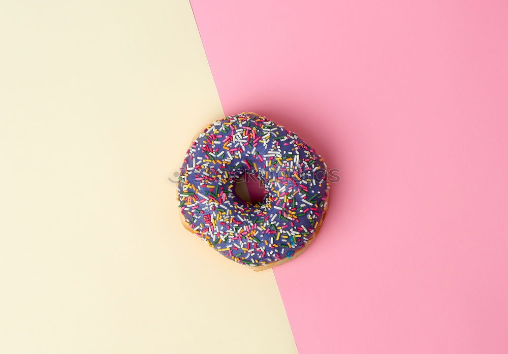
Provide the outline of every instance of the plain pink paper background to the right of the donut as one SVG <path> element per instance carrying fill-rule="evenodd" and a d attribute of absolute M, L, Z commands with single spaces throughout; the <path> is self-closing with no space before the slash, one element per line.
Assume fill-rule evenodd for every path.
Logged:
<path fill-rule="evenodd" d="M 191 3 L 225 113 L 341 170 L 274 270 L 300 354 L 508 352 L 508 3 Z"/>

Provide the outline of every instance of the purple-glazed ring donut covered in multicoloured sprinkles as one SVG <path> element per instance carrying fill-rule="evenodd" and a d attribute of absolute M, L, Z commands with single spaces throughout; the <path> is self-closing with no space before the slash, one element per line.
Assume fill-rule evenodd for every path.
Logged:
<path fill-rule="evenodd" d="M 235 181 L 254 175 L 262 202 L 240 198 Z M 315 237 L 328 205 L 327 166 L 295 133 L 256 113 L 206 126 L 178 177 L 182 223 L 218 253 L 260 271 L 288 262 Z"/>

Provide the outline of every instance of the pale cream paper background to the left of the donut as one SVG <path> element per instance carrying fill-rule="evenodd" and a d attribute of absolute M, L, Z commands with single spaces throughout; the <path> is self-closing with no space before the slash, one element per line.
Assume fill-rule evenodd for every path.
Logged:
<path fill-rule="evenodd" d="M 296 352 L 271 270 L 178 219 L 168 177 L 223 114 L 189 4 L 1 7 L 0 351 Z"/>

